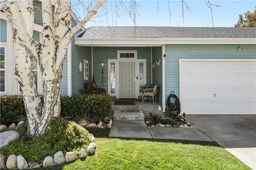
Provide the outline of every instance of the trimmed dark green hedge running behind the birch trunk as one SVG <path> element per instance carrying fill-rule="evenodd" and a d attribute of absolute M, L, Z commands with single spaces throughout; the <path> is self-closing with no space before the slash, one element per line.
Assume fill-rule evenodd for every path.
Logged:
<path fill-rule="evenodd" d="M 43 98 L 41 97 L 43 101 Z M 108 115 L 112 97 L 109 94 L 89 94 L 61 96 L 61 117 L 88 116 L 96 119 Z M 4 96 L 0 98 L 0 123 L 12 123 L 20 117 L 26 118 L 24 102 L 21 96 Z"/>

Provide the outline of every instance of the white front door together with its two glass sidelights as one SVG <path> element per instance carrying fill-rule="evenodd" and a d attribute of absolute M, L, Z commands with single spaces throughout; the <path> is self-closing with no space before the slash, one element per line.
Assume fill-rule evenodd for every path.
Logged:
<path fill-rule="evenodd" d="M 108 93 L 116 98 L 138 98 L 146 84 L 146 59 L 108 59 Z"/>

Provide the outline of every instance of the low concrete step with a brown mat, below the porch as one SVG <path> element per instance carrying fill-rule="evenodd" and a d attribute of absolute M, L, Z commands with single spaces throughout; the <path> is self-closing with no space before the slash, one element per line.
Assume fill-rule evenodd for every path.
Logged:
<path fill-rule="evenodd" d="M 114 120 L 144 120 L 142 110 L 115 110 Z"/>

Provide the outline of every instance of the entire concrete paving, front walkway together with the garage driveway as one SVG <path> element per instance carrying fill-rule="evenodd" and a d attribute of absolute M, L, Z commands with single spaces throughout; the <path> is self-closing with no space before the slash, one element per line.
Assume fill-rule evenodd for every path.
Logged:
<path fill-rule="evenodd" d="M 256 115 L 186 115 L 196 128 L 147 127 L 143 120 L 113 120 L 110 137 L 214 141 L 256 170 Z"/>

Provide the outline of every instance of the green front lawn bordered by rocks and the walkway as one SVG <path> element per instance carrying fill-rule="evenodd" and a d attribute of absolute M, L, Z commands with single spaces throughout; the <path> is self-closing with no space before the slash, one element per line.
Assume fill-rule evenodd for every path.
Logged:
<path fill-rule="evenodd" d="M 213 142 L 117 139 L 110 129 L 86 129 L 96 137 L 94 155 L 39 170 L 250 170 Z"/>

